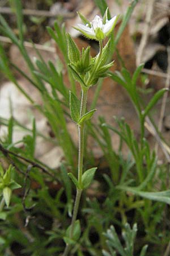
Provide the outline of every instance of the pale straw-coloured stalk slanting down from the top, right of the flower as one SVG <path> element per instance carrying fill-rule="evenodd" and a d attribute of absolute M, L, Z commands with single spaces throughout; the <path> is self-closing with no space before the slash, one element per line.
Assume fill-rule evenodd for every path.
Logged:
<path fill-rule="evenodd" d="M 151 19 L 152 19 L 152 13 L 153 13 L 153 10 L 154 10 L 154 2 L 155 2 L 155 0 L 148 1 L 146 20 L 145 20 L 145 28 L 143 30 L 141 42 L 139 44 L 138 51 L 137 51 L 137 66 L 139 64 L 141 64 L 143 51 L 144 51 L 146 43 L 147 43 L 148 34 L 149 34 L 149 30 L 150 30 Z"/>

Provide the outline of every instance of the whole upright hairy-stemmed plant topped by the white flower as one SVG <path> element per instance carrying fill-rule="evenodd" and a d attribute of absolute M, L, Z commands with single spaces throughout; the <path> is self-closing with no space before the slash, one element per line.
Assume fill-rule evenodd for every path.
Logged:
<path fill-rule="evenodd" d="M 75 27 L 75 29 L 82 32 L 87 38 L 98 41 L 100 50 L 95 57 L 91 57 L 90 47 L 86 49 L 83 48 L 82 53 L 80 53 L 74 40 L 67 34 L 68 57 L 70 61 L 69 68 L 72 76 L 81 86 L 82 96 L 81 100 L 79 100 L 76 95 L 70 91 L 70 113 L 73 121 L 78 125 L 79 155 L 78 177 L 75 177 L 71 172 L 69 173 L 71 180 L 73 180 L 76 186 L 76 198 L 71 225 L 67 229 L 66 237 L 64 238 L 66 247 L 63 256 L 69 254 L 71 245 L 75 243 L 74 240 L 78 240 L 80 237 L 80 222 L 76 220 L 80 197 L 83 189 L 86 189 L 90 185 L 97 169 L 94 167 L 83 172 L 84 126 L 96 112 L 96 109 L 92 109 L 89 112 L 86 110 L 87 93 L 90 87 L 94 86 L 100 77 L 107 76 L 109 68 L 113 65 L 113 61 L 107 63 L 111 39 L 108 40 L 104 47 L 103 40 L 113 32 L 118 19 L 118 16 L 114 16 L 112 19 L 108 20 L 108 9 L 105 11 L 103 19 L 96 15 L 92 22 L 89 22 L 80 13 L 79 16 L 83 24 L 78 24 L 78 27 Z"/>

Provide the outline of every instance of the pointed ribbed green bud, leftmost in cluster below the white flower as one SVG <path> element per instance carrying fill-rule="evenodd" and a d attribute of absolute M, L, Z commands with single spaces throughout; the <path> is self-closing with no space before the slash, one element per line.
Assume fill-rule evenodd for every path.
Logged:
<path fill-rule="evenodd" d="M 76 46 L 74 40 L 71 38 L 69 33 L 66 34 L 67 36 L 67 46 L 68 46 L 68 55 L 69 60 L 73 63 L 80 60 L 80 52 L 78 47 Z"/>

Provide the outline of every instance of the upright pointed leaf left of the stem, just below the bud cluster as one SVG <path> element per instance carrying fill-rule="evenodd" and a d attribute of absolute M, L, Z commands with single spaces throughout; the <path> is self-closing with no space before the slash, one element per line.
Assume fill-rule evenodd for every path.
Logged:
<path fill-rule="evenodd" d="M 74 122 L 79 121 L 80 117 L 80 101 L 70 90 L 70 114 Z"/>

